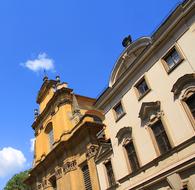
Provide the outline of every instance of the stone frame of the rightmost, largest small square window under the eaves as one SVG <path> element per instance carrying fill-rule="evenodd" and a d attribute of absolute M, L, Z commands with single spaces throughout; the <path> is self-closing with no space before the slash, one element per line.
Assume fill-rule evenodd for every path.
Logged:
<path fill-rule="evenodd" d="M 169 65 L 168 65 L 168 63 L 167 63 L 167 61 L 166 61 L 165 59 L 167 59 L 167 58 L 172 54 L 173 50 L 175 50 L 175 51 L 178 53 L 180 60 L 179 60 L 176 64 L 174 64 L 173 67 L 169 67 Z M 180 48 L 178 47 L 177 44 L 173 45 L 173 46 L 172 46 L 172 47 L 163 55 L 163 57 L 161 58 L 161 62 L 162 62 L 162 64 L 163 64 L 163 67 L 164 67 L 165 71 L 167 72 L 167 74 L 170 74 L 173 70 L 175 70 L 175 68 L 176 68 L 177 66 L 179 66 L 183 61 L 184 61 L 184 56 L 183 56 L 183 54 L 181 53 L 181 50 L 180 50 Z"/>

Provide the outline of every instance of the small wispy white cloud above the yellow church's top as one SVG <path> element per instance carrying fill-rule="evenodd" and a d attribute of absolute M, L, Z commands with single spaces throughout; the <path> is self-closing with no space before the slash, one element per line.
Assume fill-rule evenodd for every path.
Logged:
<path fill-rule="evenodd" d="M 53 71 L 54 70 L 54 60 L 49 58 L 46 53 L 40 53 L 38 57 L 34 60 L 27 60 L 22 66 L 38 72 L 41 70 Z"/>

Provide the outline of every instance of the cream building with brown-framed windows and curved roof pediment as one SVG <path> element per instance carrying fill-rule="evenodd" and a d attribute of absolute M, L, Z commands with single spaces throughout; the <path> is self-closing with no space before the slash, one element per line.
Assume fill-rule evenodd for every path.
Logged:
<path fill-rule="evenodd" d="M 95 103 L 111 139 L 95 158 L 101 190 L 194 190 L 195 1 L 123 45 Z"/>

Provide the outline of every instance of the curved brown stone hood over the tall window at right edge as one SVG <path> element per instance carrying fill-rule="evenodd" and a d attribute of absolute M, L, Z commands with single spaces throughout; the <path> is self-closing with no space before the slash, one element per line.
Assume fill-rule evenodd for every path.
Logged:
<path fill-rule="evenodd" d="M 195 73 L 186 74 L 180 77 L 173 85 L 171 92 L 173 92 L 174 96 L 178 96 L 188 84 L 195 84 Z"/>

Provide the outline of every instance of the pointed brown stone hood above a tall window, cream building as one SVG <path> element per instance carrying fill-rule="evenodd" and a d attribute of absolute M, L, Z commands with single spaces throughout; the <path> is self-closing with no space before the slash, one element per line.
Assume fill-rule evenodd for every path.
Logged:
<path fill-rule="evenodd" d="M 156 102 L 143 102 L 139 112 L 141 120 L 151 120 L 160 112 L 160 101 Z"/>

